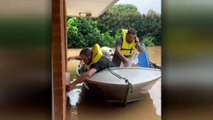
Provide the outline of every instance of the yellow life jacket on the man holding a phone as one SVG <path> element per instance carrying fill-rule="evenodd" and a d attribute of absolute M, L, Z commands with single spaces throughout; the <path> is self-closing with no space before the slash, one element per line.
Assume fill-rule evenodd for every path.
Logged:
<path fill-rule="evenodd" d="M 133 40 L 131 43 L 128 43 L 126 40 L 126 34 L 128 32 L 127 29 L 121 29 L 122 31 L 122 46 L 121 46 L 121 53 L 124 56 L 132 56 L 135 50 L 135 40 Z"/>

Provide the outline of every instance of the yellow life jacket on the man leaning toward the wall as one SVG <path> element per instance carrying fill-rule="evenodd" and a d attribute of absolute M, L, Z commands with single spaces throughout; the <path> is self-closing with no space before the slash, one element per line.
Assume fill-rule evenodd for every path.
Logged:
<path fill-rule="evenodd" d="M 93 47 L 92 47 L 92 61 L 89 63 L 89 65 L 85 64 L 86 66 L 86 69 L 89 70 L 90 69 L 90 66 L 92 64 L 95 64 L 97 63 L 102 57 L 102 51 L 101 51 L 101 48 L 98 44 L 95 44 Z"/>

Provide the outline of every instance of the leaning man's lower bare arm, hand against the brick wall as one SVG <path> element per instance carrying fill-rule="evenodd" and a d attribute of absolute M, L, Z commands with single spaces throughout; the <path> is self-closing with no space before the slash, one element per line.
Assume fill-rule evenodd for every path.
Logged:
<path fill-rule="evenodd" d="M 82 73 L 78 79 L 76 79 L 75 81 L 66 86 L 66 90 L 70 91 L 75 87 L 76 84 L 84 82 L 86 79 L 95 74 L 96 71 L 97 71 L 96 69 L 91 68 L 89 71 Z"/>

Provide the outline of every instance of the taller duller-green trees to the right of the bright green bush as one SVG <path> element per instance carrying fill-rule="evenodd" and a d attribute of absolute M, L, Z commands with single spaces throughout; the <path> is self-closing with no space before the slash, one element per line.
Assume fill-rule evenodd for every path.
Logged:
<path fill-rule="evenodd" d="M 155 45 L 161 44 L 161 15 L 153 10 L 140 14 L 137 8 L 131 4 L 118 4 L 109 8 L 97 19 L 100 32 L 110 30 L 110 35 L 118 37 L 118 31 L 122 28 L 135 28 L 139 38 L 152 36 Z"/>

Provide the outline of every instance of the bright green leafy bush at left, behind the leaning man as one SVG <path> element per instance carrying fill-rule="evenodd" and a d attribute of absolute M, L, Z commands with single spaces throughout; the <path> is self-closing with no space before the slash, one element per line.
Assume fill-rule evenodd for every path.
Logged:
<path fill-rule="evenodd" d="M 102 40 L 97 22 L 91 18 L 69 18 L 67 35 L 69 48 L 91 47 Z"/>

